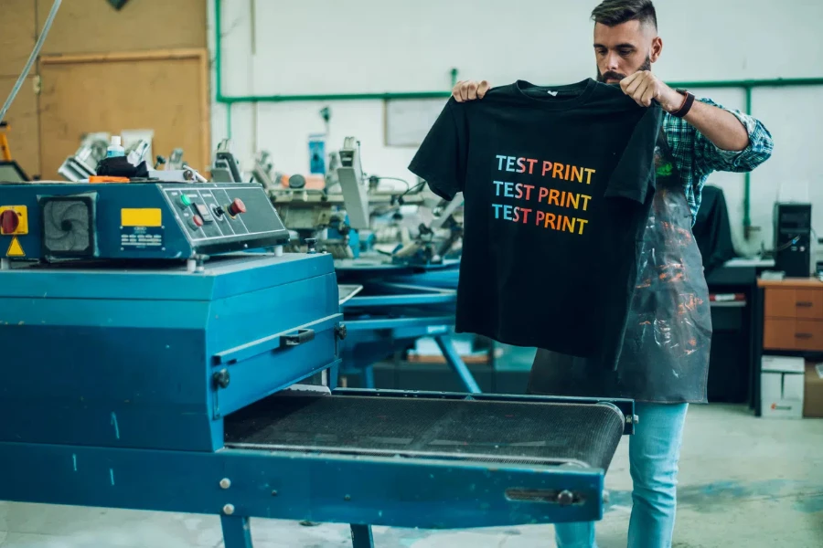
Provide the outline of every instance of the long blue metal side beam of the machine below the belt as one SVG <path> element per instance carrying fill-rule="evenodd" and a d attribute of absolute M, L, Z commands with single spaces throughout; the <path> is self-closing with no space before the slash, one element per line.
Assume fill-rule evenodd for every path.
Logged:
<path fill-rule="evenodd" d="M 230 487 L 220 487 L 229 479 Z M 365 479 L 365 480 L 364 480 Z M 603 470 L 315 455 L 0 444 L 0 499 L 311 522 L 454 529 L 599 520 Z M 509 490 L 579 492 L 580 504 Z M 232 525 L 235 527 L 235 525 Z"/>

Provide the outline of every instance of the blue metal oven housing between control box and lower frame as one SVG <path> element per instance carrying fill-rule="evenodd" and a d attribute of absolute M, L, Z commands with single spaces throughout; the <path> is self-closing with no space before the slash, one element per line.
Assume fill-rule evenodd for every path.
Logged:
<path fill-rule="evenodd" d="M 2 270 L 0 320 L 0 440 L 209 451 L 219 416 L 337 361 L 342 315 L 330 257 L 250 254 L 194 273 Z M 241 350 L 300 329 L 314 339 Z"/>

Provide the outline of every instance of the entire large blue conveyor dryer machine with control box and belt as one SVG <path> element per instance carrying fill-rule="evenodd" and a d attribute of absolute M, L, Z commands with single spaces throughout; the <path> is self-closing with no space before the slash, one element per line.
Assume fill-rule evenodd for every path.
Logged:
<path fill-rule="evenodd" d="M 337 388 L 331 256 L 258 184 L 0 184 L 0 499 L 453 529 L 583 522 L 629 400 Z"/>

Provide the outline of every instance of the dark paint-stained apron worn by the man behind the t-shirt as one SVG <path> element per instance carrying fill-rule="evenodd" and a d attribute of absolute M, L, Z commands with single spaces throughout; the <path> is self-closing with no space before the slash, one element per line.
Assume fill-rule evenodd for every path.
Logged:
<path fill-rule="evenodd" d="M 529 394 L 665 403 L 707 401 L 709 290 L 691 232 L 689 204 L 662 132 L 655 163 L 657 190 L 615 371 L 584 358 L 538 350 L 529 375 Z"/>

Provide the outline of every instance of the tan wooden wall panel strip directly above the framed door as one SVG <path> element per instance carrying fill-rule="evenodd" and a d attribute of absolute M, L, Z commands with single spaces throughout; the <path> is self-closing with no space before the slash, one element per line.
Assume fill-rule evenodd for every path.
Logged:
<path fill-rule="evenodd" d="M 207 47 L 206 1 L 129 0 L 119 11 L 105 0 L 63 2 L 43 53 Z M 50 9 L 50 0 L 38 0 L 37 21 Z"/>

